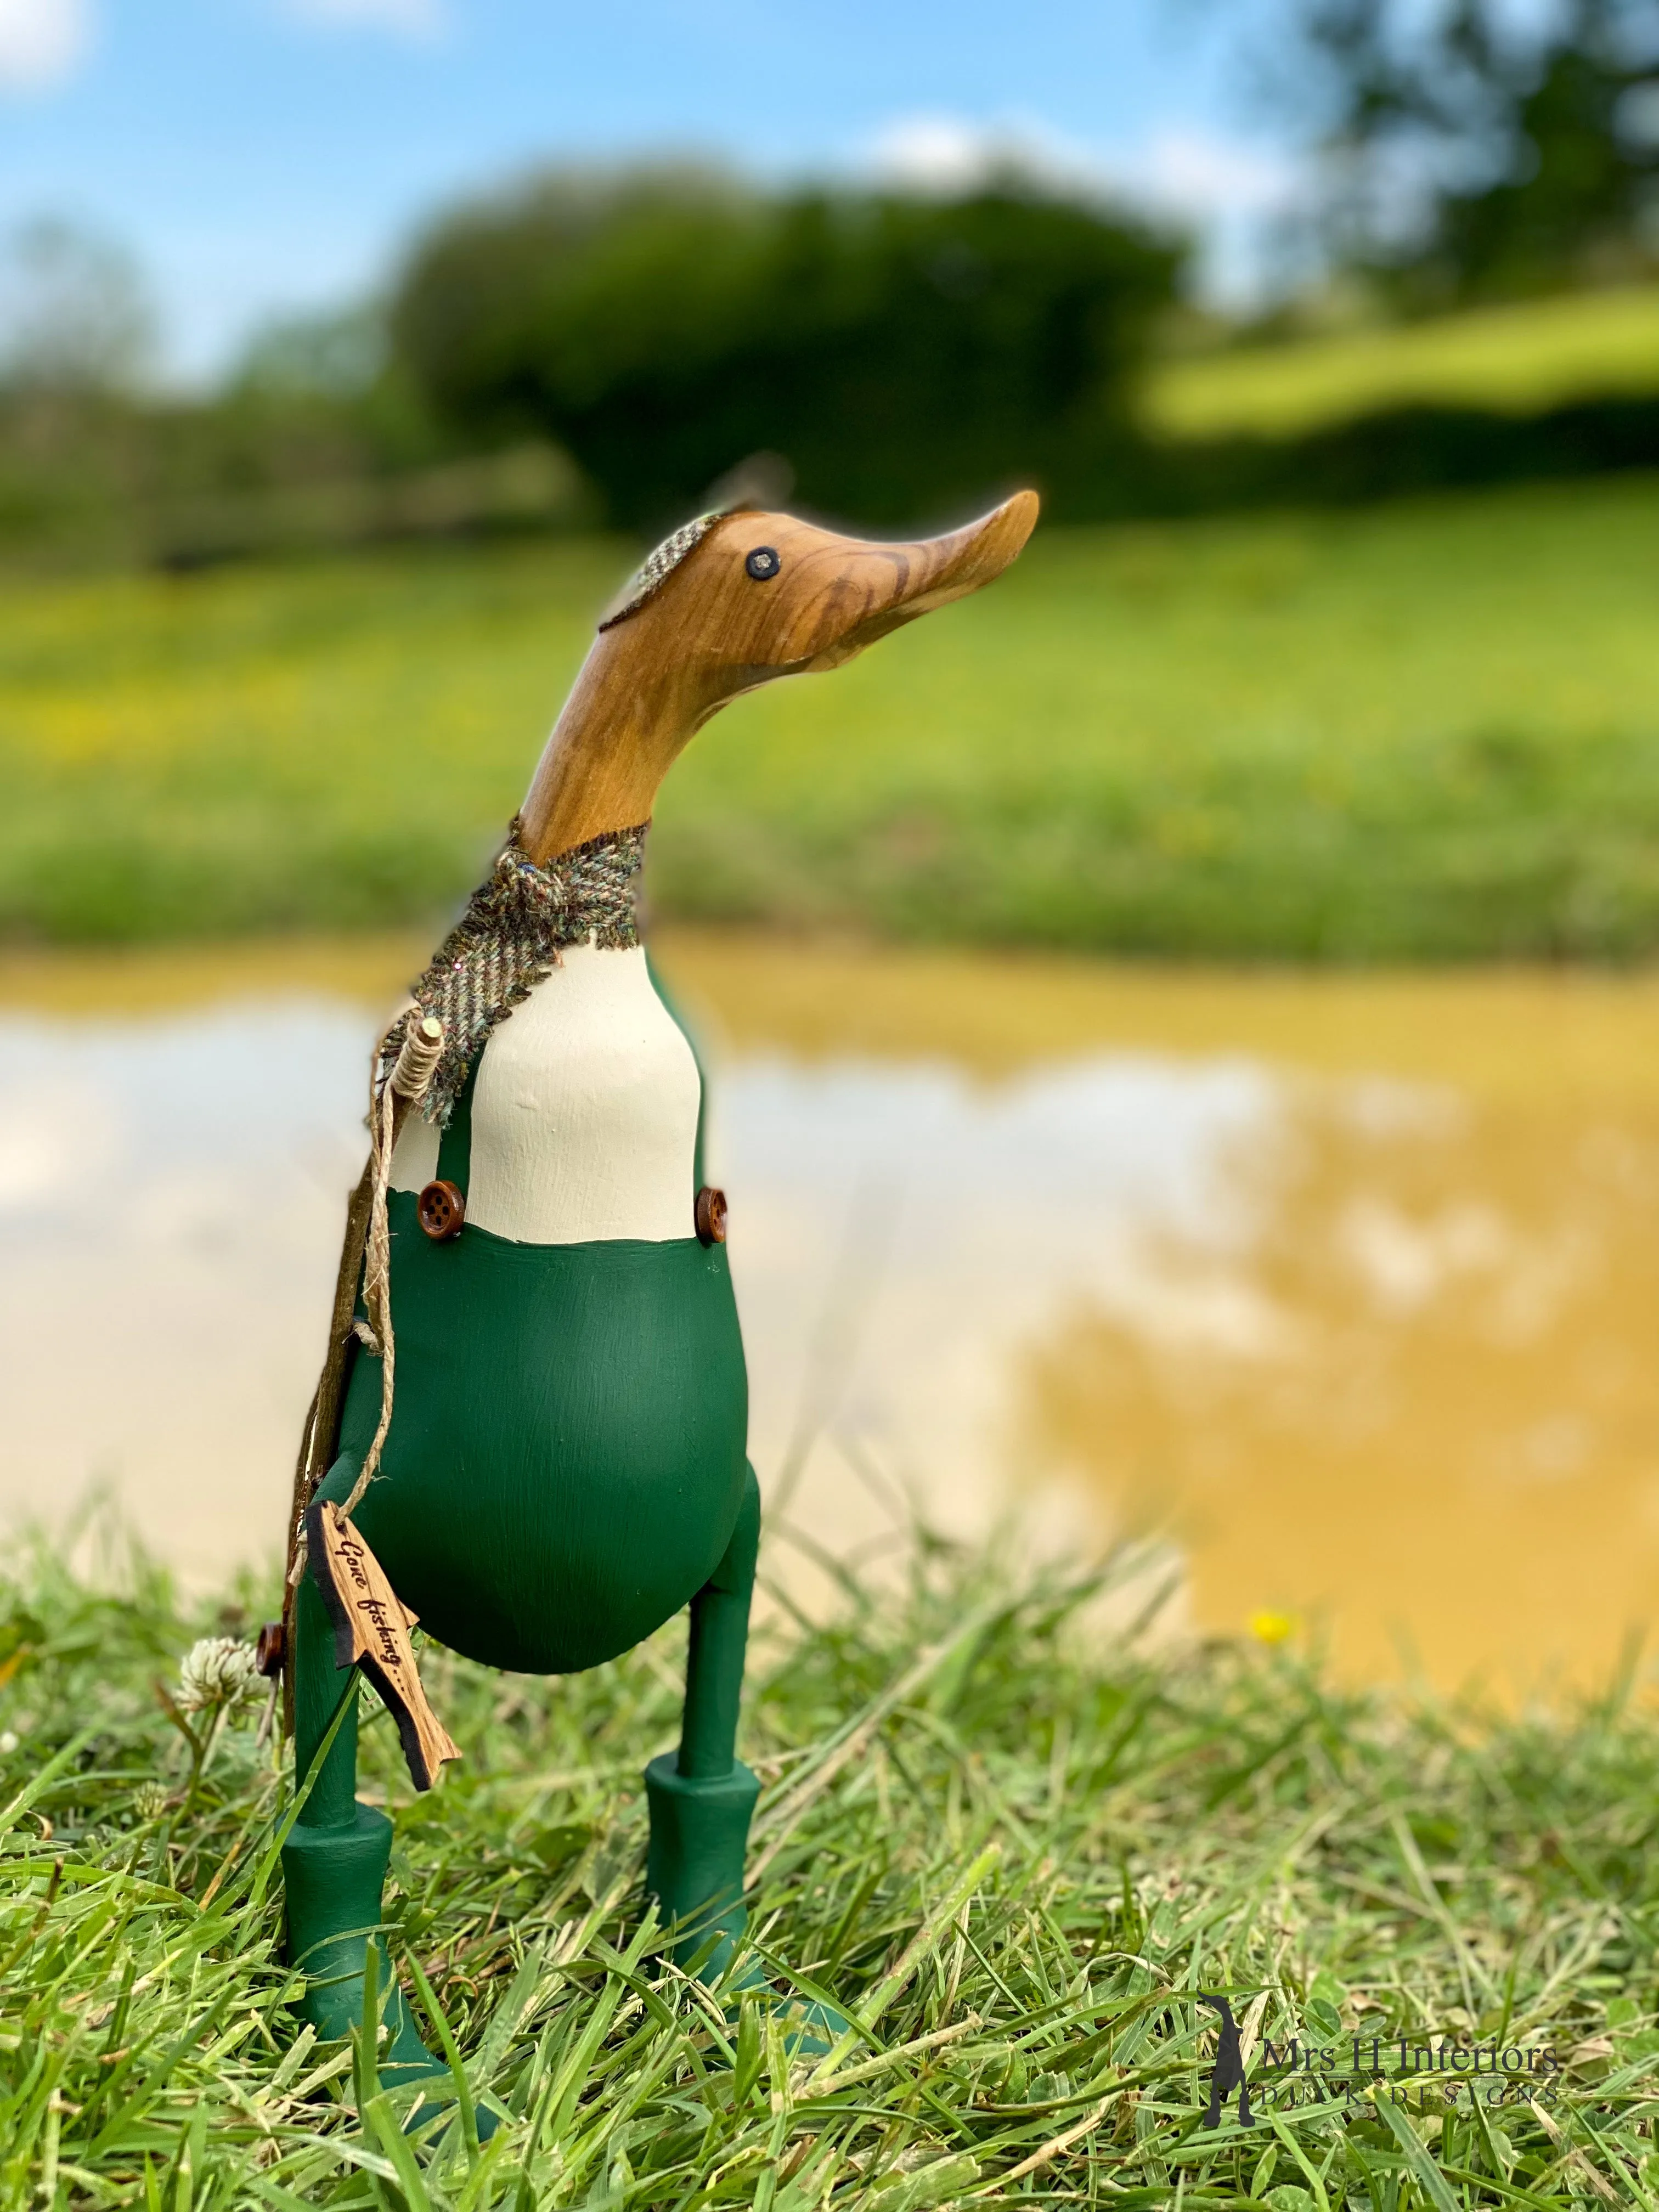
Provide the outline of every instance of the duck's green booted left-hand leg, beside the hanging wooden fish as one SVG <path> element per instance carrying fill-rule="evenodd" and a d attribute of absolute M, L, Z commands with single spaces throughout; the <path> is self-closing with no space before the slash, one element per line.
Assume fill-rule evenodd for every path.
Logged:
<path fill-rule="evenodd" d="M 343 1500 L 356 1480 L 356 1464 L 336 1460 L 319 1498 Z M 380 2048 L 383 2081 L 416 2081 L 445 2075 L 416 2033 L 398 1989 L 380 1929 L 380 1891 L 392 1858 L 392 1823 L 356 1798 L 356 1668 L 336 1668 L 334 1626 L 310 1575 L 294 1593 L 294 1774 L 299 1781 L 316 1756 L 347 1692 L 334 1743 L 312 1781 L 312 1792 L 283 1845 L 288 1896 L 288 1960 L 305 1969 L 301 2017 L 319 2037 L 347 2035 L 363 2020 L 363 1962 L 369 1938 L 380 1949 L 380 1989 L 387 2042 Z M 482 2117 L 482 2115 L 480 2115 Z"/>

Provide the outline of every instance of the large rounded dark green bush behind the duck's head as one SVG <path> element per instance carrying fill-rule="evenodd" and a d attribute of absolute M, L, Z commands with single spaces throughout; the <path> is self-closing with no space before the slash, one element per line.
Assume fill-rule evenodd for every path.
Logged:
<path fill-rule="evenodd" d="M 420 241 L 392 358 L 458 445 L 555 438 L 617 522 L 757 451 L 810 507 L 900 522 L 1128 436 L 1179 265 L 1015 177 L 938 201 L 555 173 Z"/>

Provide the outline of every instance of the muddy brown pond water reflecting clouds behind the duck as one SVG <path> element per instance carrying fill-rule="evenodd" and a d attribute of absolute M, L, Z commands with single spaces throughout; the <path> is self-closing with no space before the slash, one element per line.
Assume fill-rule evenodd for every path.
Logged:
<path fill-rule="evenodd" d="M 102 1484 L 192 1579 L 274 1551 L 365 1053 L 422 953 L 0 962 L 0 1511 Z M 911 1500 L 1073 1557 L 1168 1537 L 1179 1619 L 1349 1674 L 1513 1694 L 1648 1626 L 1659 984 L 659 958 L 710 1046 L 790 1573 Z"/>

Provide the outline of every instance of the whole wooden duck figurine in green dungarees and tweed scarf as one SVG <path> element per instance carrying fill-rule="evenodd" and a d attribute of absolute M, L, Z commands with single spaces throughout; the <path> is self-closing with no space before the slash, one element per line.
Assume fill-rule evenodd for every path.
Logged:
<path fill-rule="evenodd" d="M 670 538 L 599 626 L 495 876 L 416 984 L 411 1018 L 445 1020 L 447 1086 L 389 1146 L 389 1425 L 363 1484 L 387 1378 L 361 1301 L 343 1405 L 325 1374 L 307 1433 L 325 1473 L 296 1498 L 312 1573 L 285 1648 L 296 1774 L 314 1774 L 283 1874 L 321 2035 L 361 2017 L 392 1847 L 385 1814 L 356 1801 L 356 1701 L 341 1705 L 336 1666 L 354 1646 L 336 1648 L 316 1557 L 325 1506 L 349 1504 L 327 1526 L 361 1537 L 396 1599 L 487 1666 L 597 1666 L 690 1606 L 679 1752 L 646 1772 L 648 1889 L 681 1960 L 703 1953 L 706 1975 L 730 1960 L 759 1794 L 737 1714 L 761 1502 L 723 1201 L 701 1190 L 701 1075 L 637 942 L 633 872 L 657 787 L 710 714 L 978 591 L 1035 515 L 1022 491 L 918 544 L 750 509 Z M 347 1314 L 361 1254 L 349 1230 Z M 440 2070 L 385 1969 L 380 1986 L 383 2073 Z"/>

